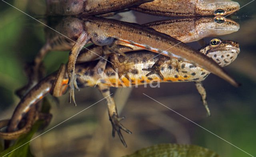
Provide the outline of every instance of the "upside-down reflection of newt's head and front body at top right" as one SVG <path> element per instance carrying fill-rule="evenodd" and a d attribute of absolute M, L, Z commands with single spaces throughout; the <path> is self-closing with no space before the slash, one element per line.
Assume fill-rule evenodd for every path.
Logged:
<path fill-rule="evenodd" d="M 223 9 L 223 14 L 215 12 L 218 8 Z M 238 11 L 239 8 L 240 5 L 231 0 L 154 0 L 132 10 L 156 16 L 191 17 L 226 16 Z"/>

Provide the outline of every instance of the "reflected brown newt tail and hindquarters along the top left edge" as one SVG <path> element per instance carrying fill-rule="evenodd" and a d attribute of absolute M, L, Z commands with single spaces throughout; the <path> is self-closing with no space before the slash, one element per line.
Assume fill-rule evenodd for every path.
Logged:
<path fill-rule="evenodd" d="M 153 0 L 46 0 L 46 15 L 100 15 Z"/>

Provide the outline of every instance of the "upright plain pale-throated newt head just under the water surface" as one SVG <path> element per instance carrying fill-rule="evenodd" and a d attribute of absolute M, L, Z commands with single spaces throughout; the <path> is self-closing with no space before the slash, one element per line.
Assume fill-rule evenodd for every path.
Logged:
<path fill-rule="evenodd" d="M 209 37 L 230 34 L 240 28 L 237 22 L 223 16 L 201 18 L 198 24 L 198 28 L 205 28 L 203 29 L 204 36 Z"/>

